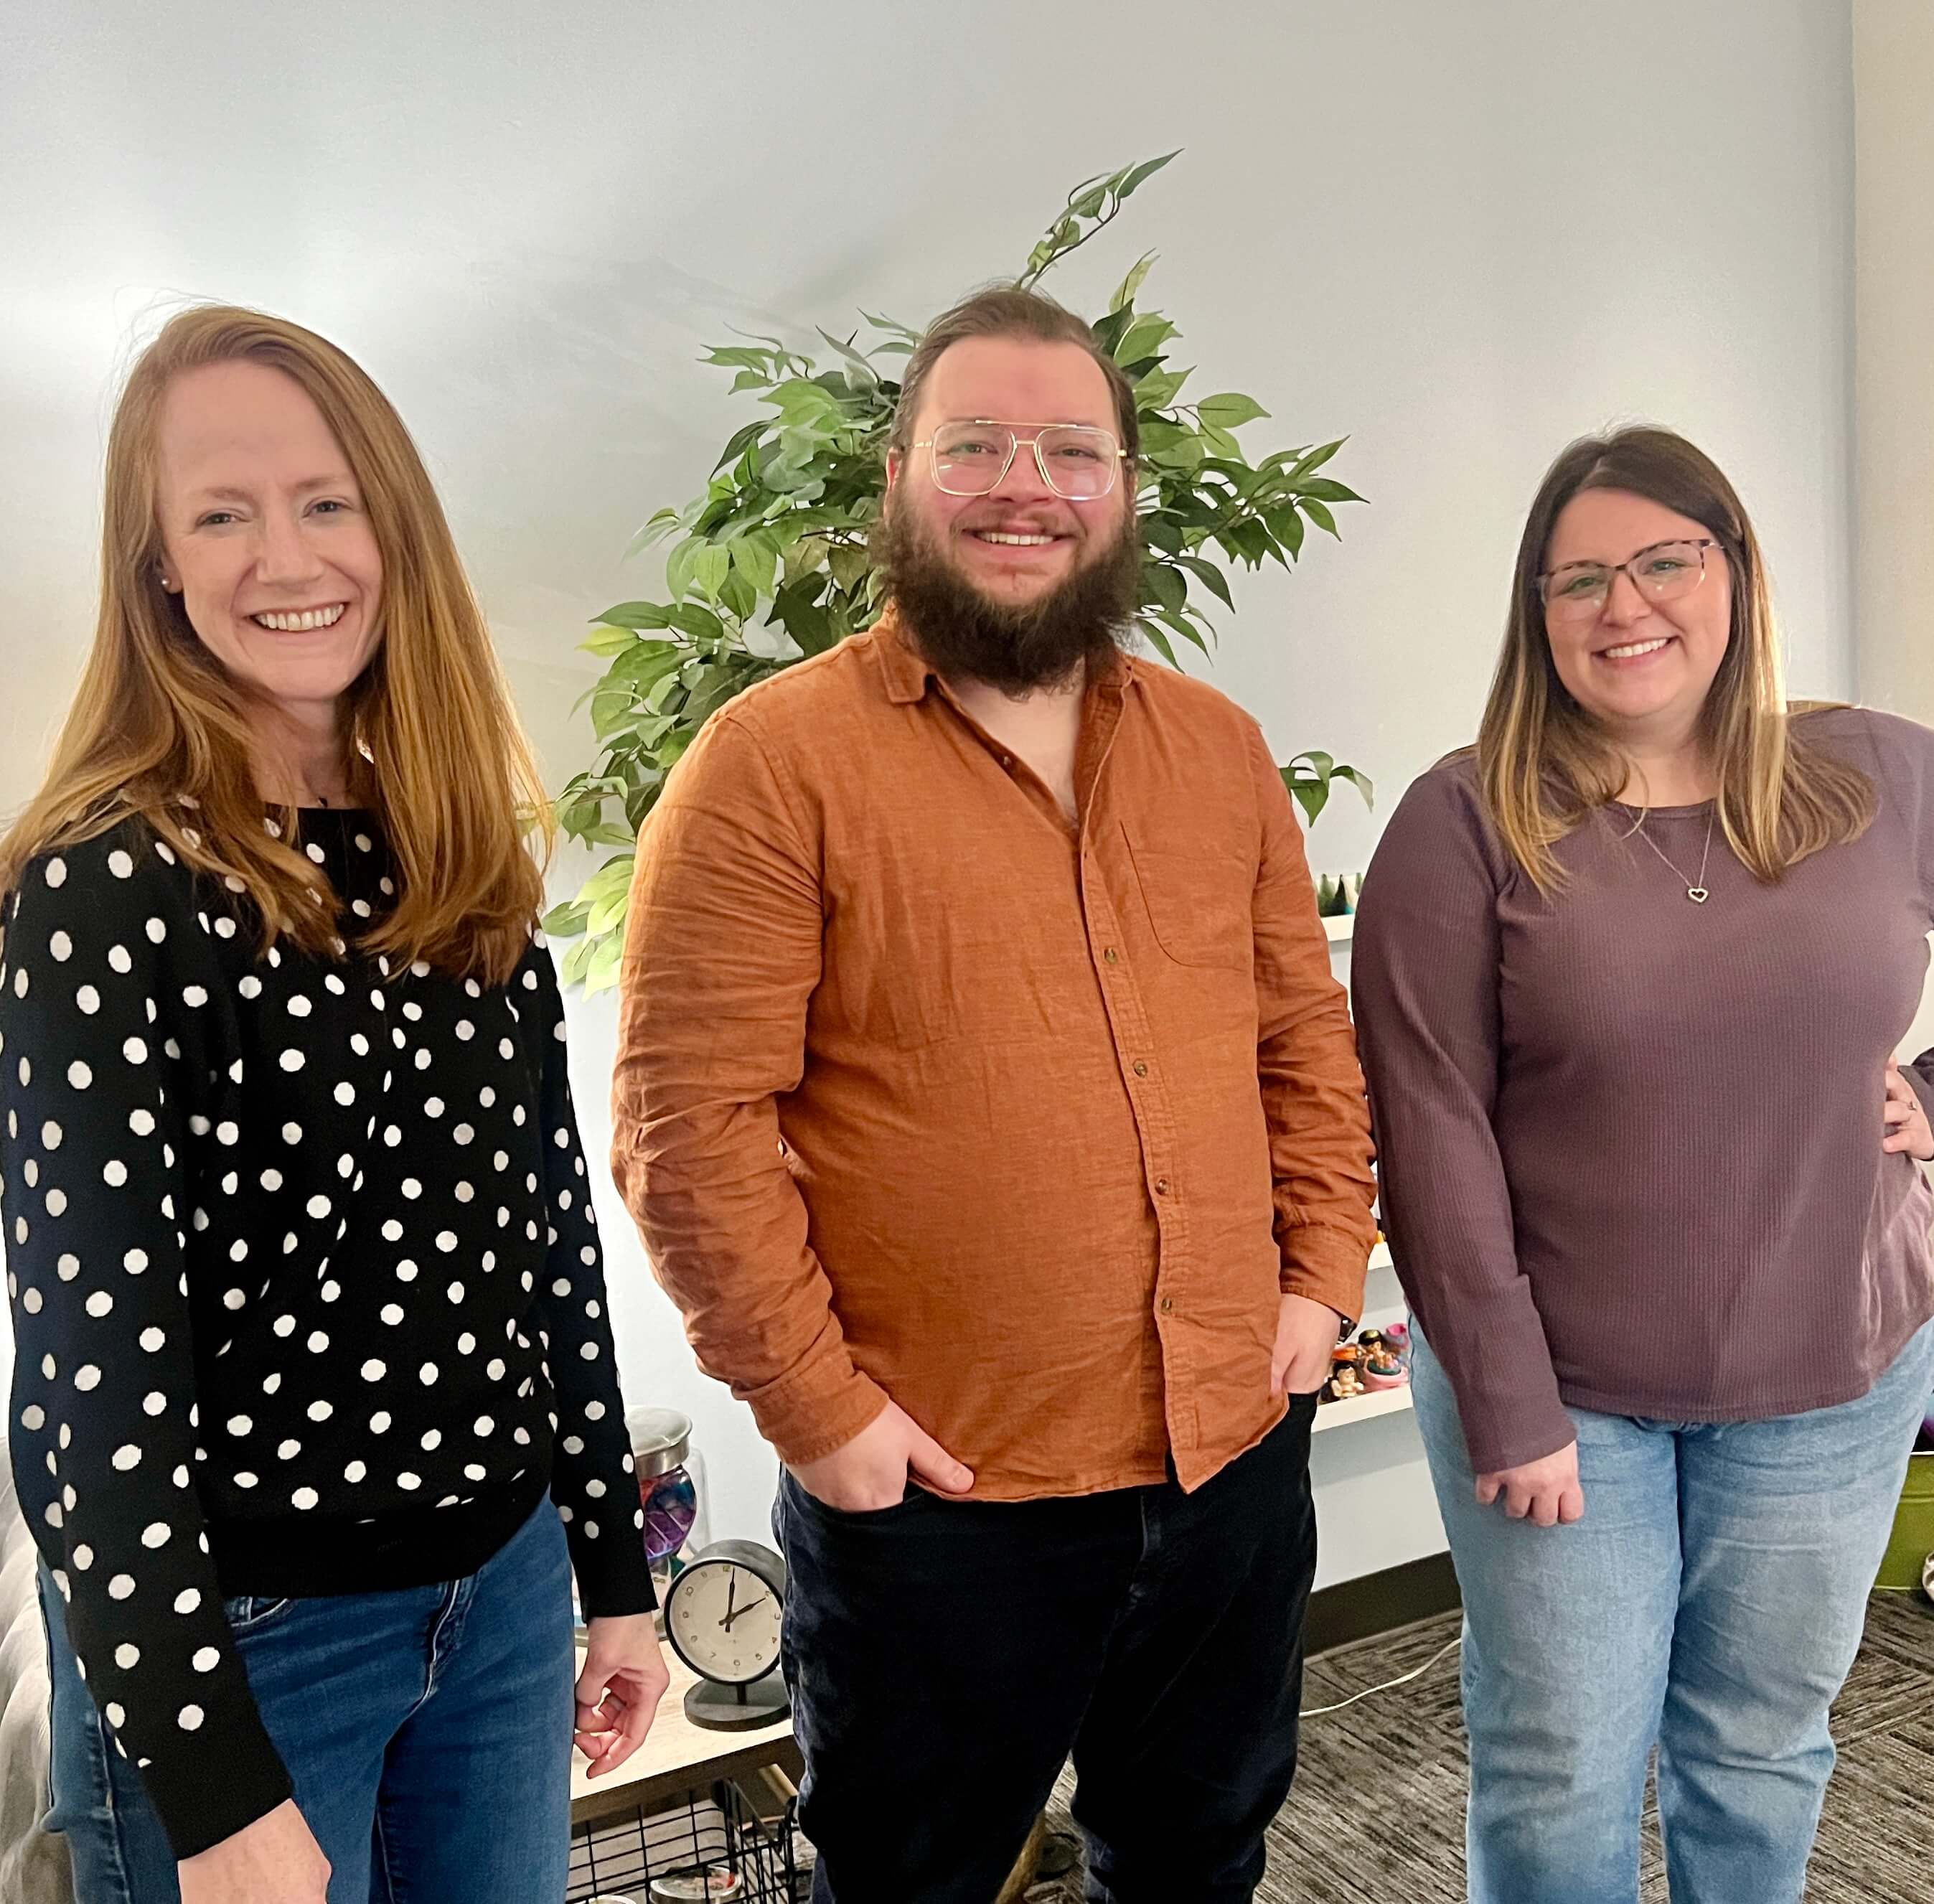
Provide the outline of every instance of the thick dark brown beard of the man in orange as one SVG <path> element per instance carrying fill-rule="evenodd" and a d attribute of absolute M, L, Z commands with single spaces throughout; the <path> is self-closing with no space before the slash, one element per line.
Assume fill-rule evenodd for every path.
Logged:
<path fill-rule="evenodd" d="M 1071 681 L 1114 656 L 1135 619 L 1141 538 L 1133 517 L 1064 582 L 1019 604 L 996 602 L 967 580 L 905 503 L 880 521 L 872 553 L 921 654 L 944 675 L 971 675 L 1004 695 Z"/>

